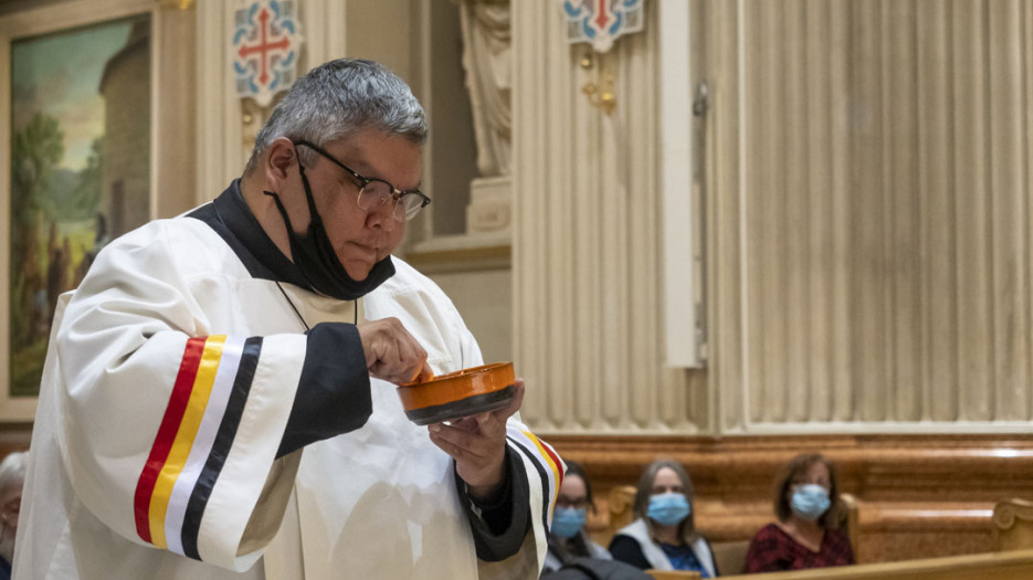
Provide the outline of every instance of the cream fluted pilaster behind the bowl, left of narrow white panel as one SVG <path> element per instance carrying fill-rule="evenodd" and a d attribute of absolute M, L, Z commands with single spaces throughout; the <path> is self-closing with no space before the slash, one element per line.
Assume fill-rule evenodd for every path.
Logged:
<path fill-rule="evenodd" d="M 558 2 L 512 7 L 514 352 L 539 431 L 692 433 L 710 416 L 704 372 L 664 362 L 655 6 L 601 57 L 610 115 L 582 93 L 595 71 Z"/>

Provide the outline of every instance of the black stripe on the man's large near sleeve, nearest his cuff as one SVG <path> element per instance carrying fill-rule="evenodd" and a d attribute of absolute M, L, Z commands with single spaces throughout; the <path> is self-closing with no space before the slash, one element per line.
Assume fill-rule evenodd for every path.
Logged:
<path fill-rule="evenodd" d="M 204 468 L 201 470 L 198 482 L 193 486 L 193 492 L 190 494 L 190 500 L 187 503 L 187 513 L 183 515 L 183 527 L 180 536 L 183 542 L 183 553 L 194 560 L 201 559 L 198 553 L 198 531 L 201 529 L 201 516 L 204 515 L 204 508 L 212 495 L 212 488 L 215 486 L 219 473 L 222 472 L 226 456 L 233 447 L 233 439 L 236 436 L 236 428 L 244 414 L 244 404 L 247 402 L 247 393 L 251 392 L 251 383 L 254 380 L 261 352 L 262 337 L 253 336 L 244 340 L 241 362 L 236 369 L 230 399 L 226 401 L 226 410 L 219 423 L 219 432 L 215 434 L 215 441 L 208 454 L 208 461 L 204 462 Z"/>

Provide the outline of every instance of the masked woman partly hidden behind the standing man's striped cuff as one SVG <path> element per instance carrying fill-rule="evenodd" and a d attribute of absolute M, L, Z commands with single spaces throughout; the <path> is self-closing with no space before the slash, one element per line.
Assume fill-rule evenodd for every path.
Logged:
<path fill-rule="evenodd" d="M 545 557 L 542 573 L 559 570 L 573 558 L 612 559 L 610 552 L 592 541 L 584 531 L 584 517 L 589 508 L 595 512 L 592 484 L 580 465 L 568 461 L 567 473 L 556 498 L 556 509 L 552 512 L 549 551 Z"/>

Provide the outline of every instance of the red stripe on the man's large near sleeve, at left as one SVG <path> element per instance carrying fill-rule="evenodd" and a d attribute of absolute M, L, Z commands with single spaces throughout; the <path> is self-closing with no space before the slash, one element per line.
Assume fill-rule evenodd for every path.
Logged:
<path fill-rule="evenodd" d="M 172 449 L 179 423 L 182 422 L 183 414 L 187 412 L 187 402 L 190 401 L 190 391 L 193 390 L 193 381 L 201 365 L 201 355 L 204 352 L 204 338 L 187 339 L 179 375 L 176 377 L 172 394 L 169 396 L 169 405 L 165 409 L 161 426 L 158 428 L 155 443 L 150 447 L 150 455 L 136 484 L 136 496 L 133 502 L 136 532 L 148 544 L 150 544 L 150 496 L 155 492 L 158 474 L 161 473 L 161 467 L 169 457 L 169 450 Z"/>

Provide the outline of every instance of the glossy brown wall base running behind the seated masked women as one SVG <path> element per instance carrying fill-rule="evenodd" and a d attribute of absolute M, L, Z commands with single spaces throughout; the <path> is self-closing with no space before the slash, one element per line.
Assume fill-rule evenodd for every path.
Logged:
<path fill-rule="evenodd" d="M 800 452 L 822 452 L 841 493 L 862 506 L 861 563 L 993 551 L 994 504 L 1033 498 L 1033 434 L 540 435 L 591 477 L 598 512 L 588 528 L 603 546 L 609 491 L 661 457 L 688 467 L 696 527 L 717 545 L 748 541 L 770 523 L 778 470 Z"/>

